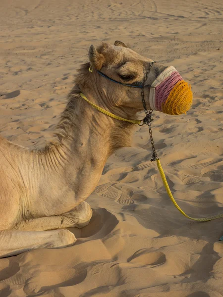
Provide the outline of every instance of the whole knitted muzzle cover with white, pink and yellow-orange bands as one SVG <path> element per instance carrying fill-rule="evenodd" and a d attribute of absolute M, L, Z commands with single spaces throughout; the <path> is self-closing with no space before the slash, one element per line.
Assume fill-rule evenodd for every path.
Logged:
<path fill-rule="evenodd" d="M 190 109 L 193 94 L 191 86 L 170 66 L 152 83 L 149 99 L 151 109 L 177 115 Z"/>

